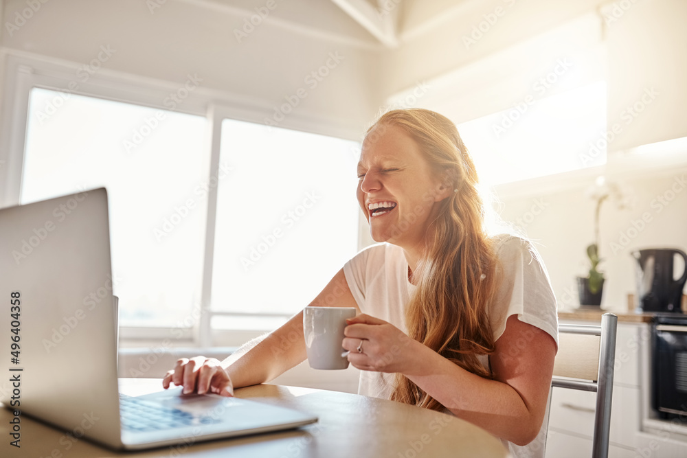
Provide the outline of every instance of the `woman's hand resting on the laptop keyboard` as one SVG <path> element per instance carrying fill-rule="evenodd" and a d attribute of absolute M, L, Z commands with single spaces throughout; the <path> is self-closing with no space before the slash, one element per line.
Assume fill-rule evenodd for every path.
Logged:
<path fill-rule="evenodd" d="M 215 358 L 196 356 L 181 358 L 174 369 L 167 371 L 162 387 L 168 389 L 170 382 L 183 385 L 183 393 L 215 393 L 220 396 L 234 396 L 234 385 L 227 371 Z"/>

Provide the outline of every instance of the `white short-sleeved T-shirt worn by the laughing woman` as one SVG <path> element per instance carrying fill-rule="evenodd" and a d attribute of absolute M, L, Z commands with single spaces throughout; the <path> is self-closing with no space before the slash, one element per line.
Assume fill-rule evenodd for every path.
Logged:
<path fill-rule="evenodd" d="M 550 334 L 558 345 L 556 297 L 539 253 L 527 240 L 509 235 L 495 237 L 499 259 L 499 290 L 488 315 L 494 341 L 506 330 L 506 319 L 517 314 L 520 321 Z M 405 307 L 416 286 L 408 281 L 408 264 L 403 249 L 382 243 L 363 249 L 343 266 L 348 288 L 361 312 L 388 321 L 407 334 Z M 488 356 L 480 356 L 488 367 Z M 358 393 L 389 399 L 395 374 L 361 371 Z M 447 413 L 449 413 L 447 411 Z M 548 425 L 548 407 L 539 435 L 527 446 L 504 441 L 513 457 L 543 457 Z"/>

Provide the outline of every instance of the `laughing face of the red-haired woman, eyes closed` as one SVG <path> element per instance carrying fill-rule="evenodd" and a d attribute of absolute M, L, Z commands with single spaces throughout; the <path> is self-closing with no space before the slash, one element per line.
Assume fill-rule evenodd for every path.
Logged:
<path fill-rule="evenodd" d="M 434 204 L 449 192 L 431 172 L 416 141 L 398 126 L 375 126 L 363 141 L 358 179 L 358 203 L 372 239 L 421 249 L 427 226 L 436 217 Z"/>

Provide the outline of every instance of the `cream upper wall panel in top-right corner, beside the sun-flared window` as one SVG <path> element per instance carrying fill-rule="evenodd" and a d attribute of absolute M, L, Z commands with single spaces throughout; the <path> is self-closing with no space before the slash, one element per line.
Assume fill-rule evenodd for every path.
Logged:
<path fill-rule="evenodd" d="M 617 19 L 607 27 L 612 89 L 608 124 L 625 126 L 631 121 L 631 127 L 609 149 L 687 136 L 687 2 L 638 0 L 627 9 L 616 7 L 613 13 Z M 652 88 L 653 100 L 645 95 Z"/>

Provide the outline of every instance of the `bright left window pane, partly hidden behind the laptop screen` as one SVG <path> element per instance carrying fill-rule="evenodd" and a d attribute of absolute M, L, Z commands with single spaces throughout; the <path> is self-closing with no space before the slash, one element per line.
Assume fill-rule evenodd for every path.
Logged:
<path fill-rule="evenodd" d="M 74 94 L 46 110 L 65 97 L 31 91 L 21 201 L 107 187 L 121 323 L 174 325 L 200 300 L 205 119 Z"/>

